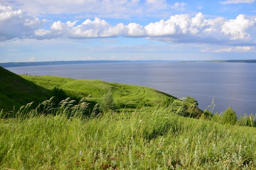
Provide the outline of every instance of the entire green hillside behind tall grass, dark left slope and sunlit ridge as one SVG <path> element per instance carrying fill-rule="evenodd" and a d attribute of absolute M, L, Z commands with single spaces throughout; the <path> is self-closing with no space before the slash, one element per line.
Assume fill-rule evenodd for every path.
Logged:
<path fill-rule="evenodd" d="M 79 101 L 83 97 L 90 95 L 87 102 L 90 103 L 90 110 L 96 103 L 101 103 L 101 99 L 108 91 L 112 92 L 117 109 L 132 109 L 140 106 L 162 106 L 169 104 L 170 99 L 177 99 L 171 95 L 157 91 L 145 86 L 135 86 L 128 84 L 110 83 L 100 80 L 71 79 L 57 76 L 29 76 L 16 75 L 0 68 L 0 108 L 13 110 L 34 101 L 34 106 L 54 96 L 52 89 L 61 88 L 65 91 L 66 97 L 71 97 Z M 57 97 L 58 99 L 58 97 Z M 58 104 L 62 99 L 55 101 Z M 167 101 L 167 102 L 166 102 Z M 198 117 L 202 110 L 194 107 L 190 103 L 176 100 L 178 106 L 184 106 L 184 116 Z M 193 115 L 191 115 L 193 110 Z"/>

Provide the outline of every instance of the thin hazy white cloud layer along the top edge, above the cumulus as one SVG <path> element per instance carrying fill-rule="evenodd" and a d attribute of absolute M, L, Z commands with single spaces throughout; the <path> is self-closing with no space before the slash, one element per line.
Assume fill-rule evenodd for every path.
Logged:
<path fill-rule="evenodd" d="M 2 0 L 37 16 L 72 14 L 80 18 L 140 18 L 167 11 L 165 0 Z M 166 11 L 163 11 L 166 9 Z"/>

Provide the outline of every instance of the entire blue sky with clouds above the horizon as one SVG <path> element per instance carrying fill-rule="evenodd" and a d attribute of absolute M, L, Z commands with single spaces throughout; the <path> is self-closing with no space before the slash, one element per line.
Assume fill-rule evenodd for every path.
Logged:
<path fill-rule="evenodd" d="M 0 0 L 0 62 L 256 59 L 256 0 Z"/>

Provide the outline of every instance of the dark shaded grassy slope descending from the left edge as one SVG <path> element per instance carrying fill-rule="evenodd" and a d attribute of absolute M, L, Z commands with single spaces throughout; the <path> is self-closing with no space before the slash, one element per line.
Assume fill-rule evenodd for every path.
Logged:
<path fill-rule="evenodd" d="M 0 67 L 0 108 L 12 110 L 29 102 L 42 102 L 50 91 Z"/>

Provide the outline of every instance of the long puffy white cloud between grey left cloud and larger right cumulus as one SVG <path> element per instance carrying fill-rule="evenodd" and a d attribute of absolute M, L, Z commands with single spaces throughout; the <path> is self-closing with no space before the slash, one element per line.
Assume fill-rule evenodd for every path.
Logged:
<path fill-rule="evenodd" d="M 124 25 L 123 23 L 111 26 L 106 20 L 94 18 L 85 20 L 82 24 L 75 26 L 75 22 L 57 21 L 52 24 L 49 30 L 38 29 L 35 31 L 36 38 L 58 38 L 65 37 L 71 39 L 85 38 L 111 38 L 111 37 L 136 37 L 144 36 L 142 26 L 136 23 Z"/>

